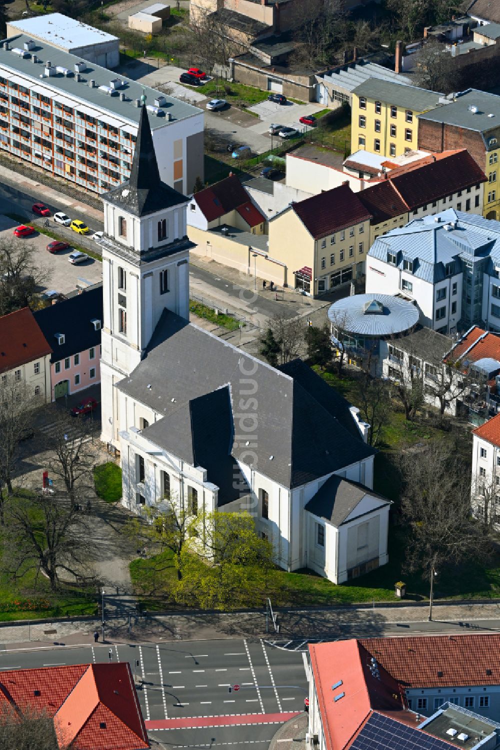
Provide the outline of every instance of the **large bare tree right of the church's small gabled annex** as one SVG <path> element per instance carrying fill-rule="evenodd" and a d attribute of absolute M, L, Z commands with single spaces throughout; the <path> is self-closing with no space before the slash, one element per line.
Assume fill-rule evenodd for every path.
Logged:
<path fill-rule="evenodd" d="M 489 536 L 471 518 L 470 484 L 463 462 L 443 443 L 402 455 L 402 520 L 409 528 L 406 562 L 429 575 L 434 568 L 486 558 Z"/>

